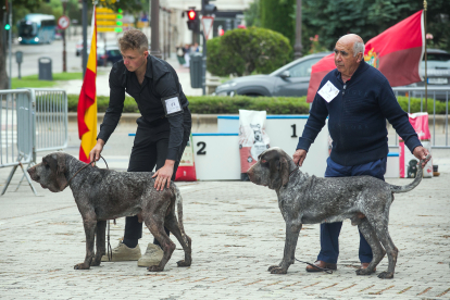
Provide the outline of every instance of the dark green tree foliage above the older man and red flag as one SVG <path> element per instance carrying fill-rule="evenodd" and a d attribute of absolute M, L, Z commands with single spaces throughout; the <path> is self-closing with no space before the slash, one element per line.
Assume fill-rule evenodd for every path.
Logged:
<path fill-rule="evenodd" d="M 433 45 L 450 50 L 450 1 L 427 2 L 427 33 L 434 35 Z M 302 34 L 318 35 L 323 45 L 333 49 L 342 35 L 352 33 L 368 41 L 422 9 L 423 1 L 411 0 L 303 0 L 302 25 L 307 28 Z"/>

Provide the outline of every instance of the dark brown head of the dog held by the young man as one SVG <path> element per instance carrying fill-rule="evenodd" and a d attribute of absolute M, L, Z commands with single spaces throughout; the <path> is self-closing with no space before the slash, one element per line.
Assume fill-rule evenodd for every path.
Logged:
<path fill-rule="evenodd" d="M 54 152 L 42 158 L 42 162 L 28 168 L 33 180 L 40 184 L 42 188 L 58 192 L 64 190 L 67 185 L 65 178 L 65 157 L 63 152 Z"/>

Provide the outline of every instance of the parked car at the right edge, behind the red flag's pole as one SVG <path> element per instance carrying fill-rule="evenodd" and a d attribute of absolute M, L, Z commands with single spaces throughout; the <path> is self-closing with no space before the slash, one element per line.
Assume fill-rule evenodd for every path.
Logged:
<path fill-rule="evenodd" d="M 438 49 L 427 49 L 427 84 L 428 87 L 445 87 L 450 91 L 450 53 L 443 50 Z M 420 74 L 422 77 L 425 77 L 425 57 L 421 62 Z M 415 84 L 408 85 L 402 88 L 408 87 L 424 87 L 425 82 L 418 82 Z M 446 100 L 446 91 L 435 91 L 436 99 Z M 434 91 L 428 91 L 428 98 L 434 97 Z M 404 95 L 404 92 L 399 92 L 399 95 Z M 411 97 L 420 98 L 425 97 L 425 93 L 422 91 L 411 92 Z M 449 92 L 450 97 L 450 92 Z"/>

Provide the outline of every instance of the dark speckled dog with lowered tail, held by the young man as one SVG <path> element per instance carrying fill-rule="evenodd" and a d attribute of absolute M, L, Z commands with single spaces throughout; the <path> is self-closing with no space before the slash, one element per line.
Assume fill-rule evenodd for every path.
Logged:
<path fill-rule="evenodd" d="M 28 173 L 43 188 L 59 192 L 64 190 L 67 182 L 84 166 L 86 163 L 70 154 L 54 152 L 28 168 Z M 178 266 L 191 264 L 191 239 L 185 234 L 183 226 L 179 189 L 172 183 L 170 188 L 158 191 L 153 188 L 155 178 L 152 175 L 151 172 L 116 172 L 89 165 L 73 177 L 68 186 L 82 214 L 86 234 L 86 258 L 83 263 L 75 265 L 75 270 L 100 265 L 101 257 L 105 254 L 107 220 L 139 213 L 164 251 L 160 264 L 150 266 L 149 271 L 163 271 L 175 250 L 175 243 L 165 234 L 164 226 L 173 233 L 185 250 L 185 260 L 177 262 Z"/>

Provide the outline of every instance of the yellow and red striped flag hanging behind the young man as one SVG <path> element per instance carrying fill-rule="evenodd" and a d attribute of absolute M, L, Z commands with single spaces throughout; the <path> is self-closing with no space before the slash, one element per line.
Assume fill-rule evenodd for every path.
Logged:
<path fill-rule="evenodd" d="M 97 143 L 97 21 L 96 7 L 92 12 L 92 39 L 85 79 L 78 98 L 78 135 L 82 140 L 79 160 L 89 163 L 89 152 Z"/>

